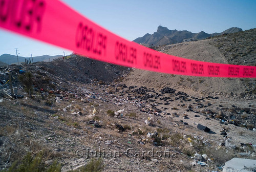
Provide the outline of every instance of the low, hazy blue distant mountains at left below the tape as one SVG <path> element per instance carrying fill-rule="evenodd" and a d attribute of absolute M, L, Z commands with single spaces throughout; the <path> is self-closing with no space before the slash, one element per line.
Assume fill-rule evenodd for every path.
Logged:
<path fill-rule="evenodd" d="M 42 55 L 42 56 L 35 56 L 33 57 L 33 61 L 37 62 L 37 61 L 52 61 L 53 59 L 62 57 L 62 55 L 55 55 L 55 56 L 50 56 L 50 55 Z M 32 58 L 29 57 L 31 62 L 32 62 Z M 25 59 L 29 59 L 28 57 L 22 57 L 22 56 L 18 56 L 18 61 L 19 63 L 24 62 L 25 63 Z M 11 65 L 13 63 L 17 64 L 17 56 L 15 55 L 11 55 L 11 54 L 2 54 L 0 56 L 0 61 L 7 63 L 8 65 Z"/>

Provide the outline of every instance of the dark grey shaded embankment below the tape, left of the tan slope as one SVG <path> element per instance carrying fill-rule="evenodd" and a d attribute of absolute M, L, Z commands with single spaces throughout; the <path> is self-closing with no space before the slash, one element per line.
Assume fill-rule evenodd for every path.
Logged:
<path fill-rule="evenodd" d="M 48 71 L 53 76 L 82 83 L 88 83 L 94 79 L 110 82 L 127 71 L 125 67 L 77 55 L 72 55 L 69 59 L 55 60 L 51 63 L 38 62 L 35 65 L 39 65 L 41 69 Z"/>

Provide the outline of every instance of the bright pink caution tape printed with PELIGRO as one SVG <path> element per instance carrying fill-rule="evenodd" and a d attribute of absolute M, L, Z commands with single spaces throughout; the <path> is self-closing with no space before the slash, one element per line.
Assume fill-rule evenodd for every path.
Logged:
<path fill-rule="evenodd" d="M 143 47 L 58 0 L 1 0 L 0 27 L 126 67 L 190 76 L 256 77 L 256 67 L 190 60 Z"/>

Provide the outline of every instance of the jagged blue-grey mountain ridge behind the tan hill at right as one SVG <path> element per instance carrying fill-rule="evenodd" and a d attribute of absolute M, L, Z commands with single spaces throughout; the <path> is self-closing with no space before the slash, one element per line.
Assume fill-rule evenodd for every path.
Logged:
<path fill-rule="evenodd" d="M 166 27 L 158 26 L 157 32 L 154 32 L 153 34 L 145 34 L 142 37 L 138 37 L 134 42 L 137 42 L 138 44 L 143 44 L 147 47 L 152 46 L 161 46 L 161 45 L 169 45 L 169 44 L 177 44 L 179 42 L 183 42 L 184 39 L 188 38 L 195 38 L 195 39 L 205 39 L 210 36 L 217 36 L 222 35 L 225 33 L 236 33 L 243 31 L 241 28 L 229 28 L 221 33 L 205 33 L 204 31 L 201 31 L 199 33 L 192 33 L 186 30 L 178 31 L 178 30 L 169 30 Z"/>

